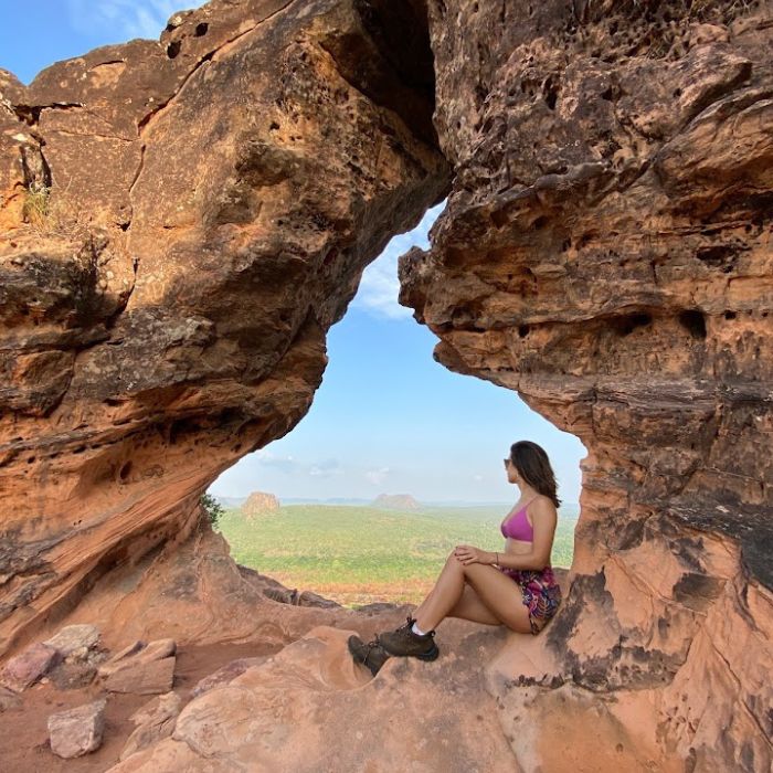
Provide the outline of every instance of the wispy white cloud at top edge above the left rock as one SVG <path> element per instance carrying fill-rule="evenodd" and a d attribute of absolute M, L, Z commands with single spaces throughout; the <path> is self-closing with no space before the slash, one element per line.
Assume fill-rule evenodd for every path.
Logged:
<path fill-rule="evenodd" d="M 115 33 L 115 42 L 133 38 L 158 40 L 171 15 L 187 8 L 180 0 L 67 0 L 72 25 L 85 34 Z"/>

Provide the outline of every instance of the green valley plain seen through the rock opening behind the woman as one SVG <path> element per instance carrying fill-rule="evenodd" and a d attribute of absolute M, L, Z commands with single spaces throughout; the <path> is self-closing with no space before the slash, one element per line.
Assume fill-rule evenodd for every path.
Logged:
<path fill-rule="evenodd" d="M 247 519 L 239 509 L 219 530 L 241 564 L 288 587 L 354 606 L 377 601 L 419 603 L 457 544 L 501 550 L 507 507 L 374 507 L 290 505 Z M 576 506 L 562 507 L 552 563 L 569 566 Z"/>

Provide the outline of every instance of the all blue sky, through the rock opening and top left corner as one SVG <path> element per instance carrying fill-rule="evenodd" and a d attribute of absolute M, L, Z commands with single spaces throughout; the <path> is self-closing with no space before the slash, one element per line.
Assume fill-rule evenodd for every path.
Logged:
<path fill-rule="evenodd" d="M 188 6 L 195 8 L 201 3 Z M 31 13 L 0 0 L 0 66 L 22 83 L 63 59 L 133 38 L 158 38 L 184 6 L 169 0 L 39 0 Z M 210 491 L 284 498 L 371 498 L 507 502 L 518 498 L 502 457 L 511 443 L 539 443 L 559 496 L 576 502 L 585 449 L 515 392 L 447 371 L 437 342 L 398 304 L 398 257 L 426 234 L 443 205 L 395 236 L 367 269 L 347 315 L 328 335 L 329 363 L 295 430 L 225 470 Z"/>

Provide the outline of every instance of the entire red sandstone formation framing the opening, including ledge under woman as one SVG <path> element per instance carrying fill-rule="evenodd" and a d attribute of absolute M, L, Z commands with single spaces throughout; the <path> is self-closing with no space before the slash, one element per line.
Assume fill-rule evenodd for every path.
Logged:
<path fill-rule="evenodd" d="M 772 29 L 770 0 L 215 0 L 0 73 L 0 650 L 65 618 L 288 645 L 121 771 L 298 769 L 288 685 L 317 733 L 430 712 L 448 753 L 380 735 L 419 770 L 769 771 Z M 454 623 L 447 659 L 361 682 L 337 659 L 361 617 L 266 599 L 197 502 L 308 410 L 327 329 L 449 167 L 401 299 L 440 362 L 589 449 L 571 587 L 496 657 Z M 360 770 L 348 741 L 307 748 Z"/>

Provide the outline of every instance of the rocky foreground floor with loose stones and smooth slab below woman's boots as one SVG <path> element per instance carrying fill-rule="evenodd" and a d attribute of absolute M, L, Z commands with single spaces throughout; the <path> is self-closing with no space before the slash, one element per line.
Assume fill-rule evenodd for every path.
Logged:
<path fill-rule="evenodd" d="M 161 639 L 112 653 L 96 627 L 67 626 L 0 674 L 3 770 L 512 770 L 484 674 L 505 628 L 446 621 L 438 660 L 392 658 L 374 678 L 352 660 L 352 633 L 368 640 L 406 611 L 351 613 L 351 627 L 285 646 Z"/>

